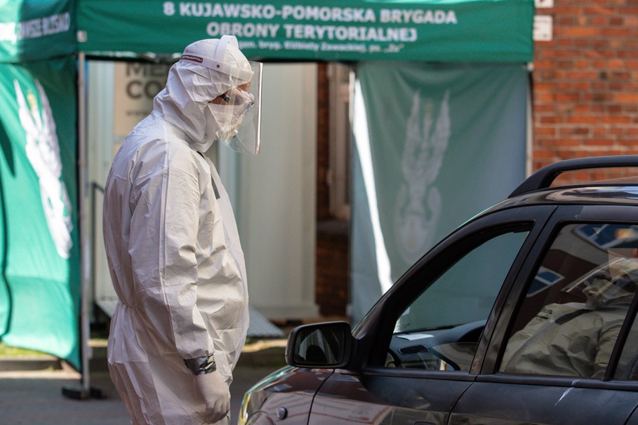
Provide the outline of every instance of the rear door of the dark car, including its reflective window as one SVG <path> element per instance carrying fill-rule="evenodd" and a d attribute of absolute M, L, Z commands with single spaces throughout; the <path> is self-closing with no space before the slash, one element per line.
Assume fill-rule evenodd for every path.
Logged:
<path fill-rule="evenodd" d="M 636 217 L 628 206 L 554 212 L 451 425 L 625 424 L 638 405 Z"/>

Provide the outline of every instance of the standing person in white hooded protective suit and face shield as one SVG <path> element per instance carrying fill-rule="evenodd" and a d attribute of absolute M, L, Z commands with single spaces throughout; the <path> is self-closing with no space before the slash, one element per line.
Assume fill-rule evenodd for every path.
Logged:
<path fill-rule="evenodd" d="M 234 36 L 187 46 L 117 152 L 103 229 L 119 297 L 112 380 L 133 424 L 229 424 L 246 339 L 244 254 L 213 141 L 259 152 L 261 64 Z"/>

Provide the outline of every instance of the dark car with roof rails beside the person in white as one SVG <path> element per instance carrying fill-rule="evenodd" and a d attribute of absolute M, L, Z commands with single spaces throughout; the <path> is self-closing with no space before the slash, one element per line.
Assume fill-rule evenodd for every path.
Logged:
<path fill-rule="evenodd" d="M 239 423 L 638 424 L 638 178 L 552 187 L 637 166 L 583 158 L 531 175 L 354 330 L 295 328 L 290 367 L 246 393 Z"/>

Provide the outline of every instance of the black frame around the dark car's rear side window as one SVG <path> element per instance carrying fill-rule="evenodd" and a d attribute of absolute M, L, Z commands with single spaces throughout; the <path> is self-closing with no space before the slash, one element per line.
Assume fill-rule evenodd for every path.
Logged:
<path fill-rule="evenodd" d="M 592 379 L 585 377 L 560 377 L 547 375 L 510 375 L 500 372 L 500 360 L 503 357 L 507 338 L 510 329 L 516 318 L 516 314 L 521 308 L 529 285 L 536 276 L 536 270 L 543 262 L 547 250 L 550 249 L 559 231 L 569 224 L 586 223 L 618 223 L 618 224 L 638 224 L 636 218 L 637 208 L 632 205 L 559 205 L 550 220 L 547 221 L 542 234 L 532 248 L 526 264 L 521 268 L 526 272 L 521 273 L 521 278 L 517 278 L 512 285 L 512 290 L 505 300 L 503 311 L 498 317 L 492 340 L 487 347 L 486 358 L 478 381 L 500 382 L 515 384 L 535 384 L 552 386 L 577 386 L 583 388 L 608 388 L 608 389 L 630 389 L 636 391 L 637 381 L 627 381 L 613 379 L 613 374 L 618 366 L 618 359 L 622 352 L 631 325 L 638 311 L 638 294 L 632 300 L 632 304 L 627 310 L 625 321 L 620 329 L 618 339 L 614 345 L 609 358 L 609 365 L 602 379 Z M 524 278 L 523 278 L 524 277 Z"/>

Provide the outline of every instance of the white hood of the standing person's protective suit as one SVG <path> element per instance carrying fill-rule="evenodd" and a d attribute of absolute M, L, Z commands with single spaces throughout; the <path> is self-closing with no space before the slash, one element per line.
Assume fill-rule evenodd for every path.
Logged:
<path fill-rule="evenodd" d="M 234 42 L 228 42 L 228 39 Z M 208 102 L 234 87 L 251 80 L 251 65 L 237 48 L 233 36 L 196 41 L 184 50 L 182 58 L 215 58 L 224 48 L 221 71 L 200 65 L 192 60 L 179 60 L 168 71 L 166 88 L 153 100 L 154 112 L 159 112 L 168 123 L 183 130 L 194 149 L 205 152 L 216 139 L 211 131 Z"/>

